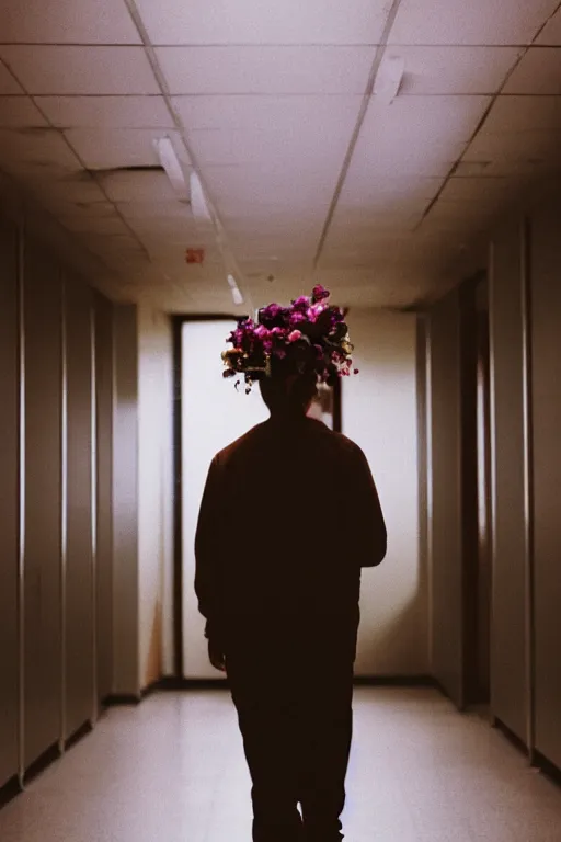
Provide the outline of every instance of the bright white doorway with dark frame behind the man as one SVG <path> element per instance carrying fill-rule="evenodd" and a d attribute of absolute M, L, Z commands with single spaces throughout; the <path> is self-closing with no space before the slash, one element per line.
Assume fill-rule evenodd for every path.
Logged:
<path fill-rule="evenodd" d="M 194 589 L 195 531 L 215 454 L 268 417 L 255 385 L 245 395 L 222 377 L 221 352 L 234 316 L 174 318 L 174 675 L 180 682 L 219 680 L 209 664 L 205 621 Z M 320 387 L 309 414 L 341 431 L 341 384 Z"/>

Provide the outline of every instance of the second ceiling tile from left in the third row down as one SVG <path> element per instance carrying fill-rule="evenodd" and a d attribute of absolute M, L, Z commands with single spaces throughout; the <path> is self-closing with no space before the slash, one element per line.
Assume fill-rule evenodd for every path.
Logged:
<path fill-rule="evenodd" d="M 37 96 L 61 128 L 173 128 L 163 96 Z"/>

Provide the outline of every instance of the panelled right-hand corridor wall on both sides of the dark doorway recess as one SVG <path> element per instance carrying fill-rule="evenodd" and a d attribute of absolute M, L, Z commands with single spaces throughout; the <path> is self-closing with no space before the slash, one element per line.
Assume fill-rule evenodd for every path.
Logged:
<path fill-rule="evenodd" d="M 530 756 L 539 760 L 541 755 L 561 769 L 561 206 L 557 196 L 551 197 L 552 191 L 554 187 L 541 189 L 527 197 L 525 206 L 514 209 L 490 234 L 491 710 L 527 747 Z M 443 439 L 450 431 L 457 439 L 456 384 L 463 385 L 458 337 L 444 341 L 453 323 L 462 318 L 459 296 L 454 311 L 446 316 L 451 300 L 448 296 L 431 308 L 431 319 L 440 322 L 440 344 L 436 346 L 432 337 L 431 349 L 433 417 L 438 389 L 435 377 L 442 392 L 448 392 L 440 423 L 433 423 L 431 471 L 434 493 L 442 496 L 443 504 L 450 504 L 438 523 L 435 512 L 433 536 L 443 541 L 442 528 L 449 530 L 450 523 L 455 536 L 446 553 L 433 547 L 432 568 L 435 600 L 436 591 L 443 590 L 443 608 L 435 610 L 435 638 L 449 650 L 448 660 L 460 674 L 466 651 L 456 642 L 454 648 L 450 645 L 457 629 L 450 635 L 448 615 L 456 612 L 458 587 L 462 600 L 467 585 L 466 511 L 463 501 L 458 505 L 456 500 L 461 482 L 457 453 L 466 441 L 462 436 L 459 445 L 457 441 L 446 444 Z M 460 337 L 460 351 L 466 339 Z M 438 452 L 445 447 L 447 460 Z M 457 564 L 458 532 L 463 574 Z M 451 582 L 443 577 L 444 565 L 448 576 L 456 571 Z M 440 678 L 437 664 L 435 672 Z"/>

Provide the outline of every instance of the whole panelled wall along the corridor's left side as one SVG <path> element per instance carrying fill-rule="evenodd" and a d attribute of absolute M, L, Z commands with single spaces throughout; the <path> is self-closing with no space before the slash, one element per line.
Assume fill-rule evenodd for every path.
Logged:
<path fill-rule="evenodd" d="M 0 185 L 1 788 L 139 678 L 136 308 Z"/>

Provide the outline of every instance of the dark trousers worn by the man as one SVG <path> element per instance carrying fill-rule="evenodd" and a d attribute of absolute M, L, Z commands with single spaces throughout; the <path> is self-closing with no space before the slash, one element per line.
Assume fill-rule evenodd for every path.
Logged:
<path fill-rule="evenodd" d="M 356 623 L 254 627 L 229 637 L 254 842 L 343 839 Z"/>

